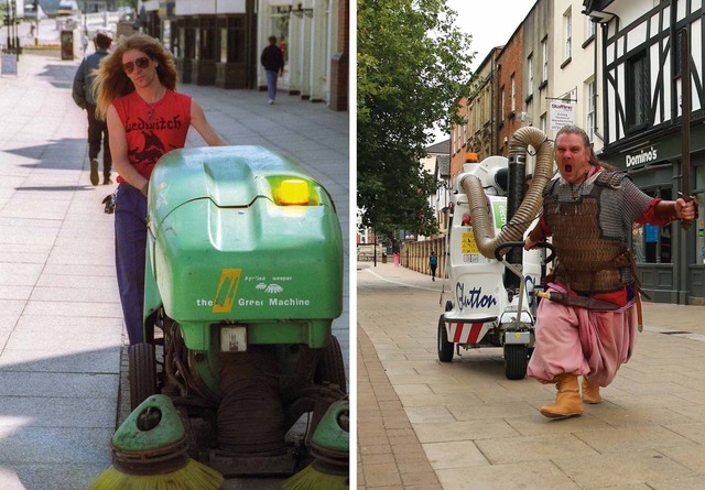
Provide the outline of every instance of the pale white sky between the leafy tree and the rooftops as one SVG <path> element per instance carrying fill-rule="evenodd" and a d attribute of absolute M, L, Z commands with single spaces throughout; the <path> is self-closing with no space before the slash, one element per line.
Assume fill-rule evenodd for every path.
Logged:
<path fill-rule="evenodd" d="M 536 0 L 447 0 L 457 12 L 456 25 L 473 35 L 470 52 L 476 52 L 470 67 L 475 70 L 490 50 L 501 46 L 525 19 Z M 441 130 L 434 131 L 434 143 L 448 139 Z"/>

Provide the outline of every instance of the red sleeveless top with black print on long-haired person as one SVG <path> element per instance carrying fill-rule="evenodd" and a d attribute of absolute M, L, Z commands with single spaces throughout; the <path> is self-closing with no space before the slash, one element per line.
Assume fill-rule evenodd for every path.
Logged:
<path fill-rule="evenodd" d="M 112 101 L 128 140 L 128 161 L 144 178 L 150 178 L 156 161 L 172 150 L 184 148 L 191 126 L 191 97 L 166 90 L 149 105 L 137 91 Z M 124 179 L 118 176 L 118 182 Z"/>

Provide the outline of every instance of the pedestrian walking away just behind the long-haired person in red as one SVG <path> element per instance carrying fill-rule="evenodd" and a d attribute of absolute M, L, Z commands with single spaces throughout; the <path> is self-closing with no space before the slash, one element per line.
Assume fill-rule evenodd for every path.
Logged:
<path fill-rule="evenodd" d="M 96 51 L 84 57 L 74 76 L 74 101 L 86 110 L 88 116 L 88 161 L 90 162 L 90 183 L 98 185 L 98 154 L 102 143 L 102 184 L 112 184 L 110 172 L 112 170 L 112 156 L 110 155 L 110 140 L 106 121 L 96 118 L 97 86 L 94 85 L 100 62 L 108 56 L 108 50 L 112 44 L 110 32 L 98 31 L 94 39 Z"/>

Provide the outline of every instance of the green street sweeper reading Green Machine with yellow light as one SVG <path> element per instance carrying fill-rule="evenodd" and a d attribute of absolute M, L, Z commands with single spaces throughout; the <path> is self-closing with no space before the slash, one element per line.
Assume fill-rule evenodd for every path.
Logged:
<path fill-rule="evenodd" d="M 148 214 L 131 407 L 169 395 L 192 457 L 226 476 L 291 475 L 317 421 L 346 396 L 332 334 L 343 241 L 330 196 L 261 146 L 184 149 L 156 164 Z"/>

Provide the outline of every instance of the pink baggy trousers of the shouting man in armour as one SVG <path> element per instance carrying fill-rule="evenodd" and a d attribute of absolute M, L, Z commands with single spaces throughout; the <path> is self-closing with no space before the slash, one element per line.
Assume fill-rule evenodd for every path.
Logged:
<path fill-rule="evenodd" d="M 634 302 L 614 312 L 595 312 L 542 301 L 536 316 L 536 342 L 528 374 L 542 383 L 570 372 L 607 386 L 634 350 Z"/>

